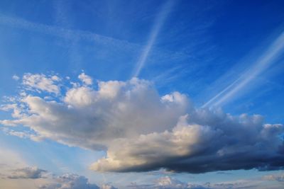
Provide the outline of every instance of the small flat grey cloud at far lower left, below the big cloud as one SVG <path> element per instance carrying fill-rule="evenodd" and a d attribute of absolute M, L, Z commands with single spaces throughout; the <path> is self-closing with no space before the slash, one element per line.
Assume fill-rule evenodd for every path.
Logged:
<path fill-rule="evenodd" d="M 45 173 L 47 171 L 37 168 L 37 167 L 25 167 L 25 168 L 17 168 L 13 170 L 10 176 L 7 178 L 13 178 L 13 179 L 18 179 L 18 178 L 31 178 L 31 179 L 36 179 L 36 178 L 43 178 Z"/>

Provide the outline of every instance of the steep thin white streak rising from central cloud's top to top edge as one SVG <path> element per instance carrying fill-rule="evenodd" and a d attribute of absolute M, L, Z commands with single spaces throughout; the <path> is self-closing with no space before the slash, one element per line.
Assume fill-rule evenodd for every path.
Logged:
<path fill-rule="evenodd" d="M 155 19 L 155 23 L 153 26 L 153 29 L 151 30 L 151 34 L 149 36 L 148 42 L 146 47 L 144 47 L 138 62 L 136 63 L 136 67 L 133 71 L 133 77 L 136 77 L 140 74 L 141 69 L 143 68 L 146 59 L 149 55 L 149 52 L 151 52 L 151 49 L 153 47 L 153 44 L 155 42 L 155 39 L 157 38 L 157 35 L 160 31 L 160 28 L 162 27 L 163 23 L 165 22 L 165 18 L 168 16 L 168 13 L 170 12 L 171 7 L 173 6 L 173 1 L 169 0 L 167 1 L 163 7 L 161 8 L 160 13 L 158 14 L 157 18 Z"/>

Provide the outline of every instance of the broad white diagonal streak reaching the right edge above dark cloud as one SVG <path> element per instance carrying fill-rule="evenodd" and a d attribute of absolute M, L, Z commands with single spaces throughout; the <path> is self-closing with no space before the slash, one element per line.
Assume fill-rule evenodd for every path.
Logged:
<path fill-rule="evenodd" d="M 219 106 L 222 103 L 229 101 L 229 99 L 236 95 L 241 88 L 248 85 L 250 81 L 256 78 L 259 74 L 262 74 L 263 71 L 268 69 L 277 59 L 284 50 L 284 32 L 281 33 L 278 38 L 268 47 L 268 50 L 263 53 L 261 57 L 258 57 L 256 62 L 253 63 L 253 66 L 247 71 L 244 71 L 238 79 L 236 79 L 232 84 L 224 88 L 220 93 L 211 98 L 207 103 L 202 105 L 202 108 L 208 106 Z"/>

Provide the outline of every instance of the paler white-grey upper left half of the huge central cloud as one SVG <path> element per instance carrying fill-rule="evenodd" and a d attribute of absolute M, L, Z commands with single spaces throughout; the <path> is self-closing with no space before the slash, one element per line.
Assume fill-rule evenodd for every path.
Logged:
<path fill-rule="evenodd" d="M 139 79 L 99 81 L 97 91 L 70 88 L 59 103 L 25 96 L 20 101 L 26 107 L 23 116 L 1 123 L 26 125 L 39 137 L 64 144 L 102 149 L 115 138 L 170 129 L 186 113 L 188 103 L 185 95 L 175 96 L 179 98 L 161 101 L 152 84 Z"/>

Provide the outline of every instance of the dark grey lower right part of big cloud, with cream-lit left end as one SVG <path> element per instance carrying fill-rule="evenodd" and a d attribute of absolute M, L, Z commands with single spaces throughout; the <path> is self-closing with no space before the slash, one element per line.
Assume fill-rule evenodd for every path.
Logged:
<path fill-rule="evenodd" d="M 97 171 L 204 173 L 284 168 L 283 125 L 264 124 L 259 115 L 234 117 L 221 110 L 195 110 L 171 131 L 119 139 L 92 168 Z"/>

